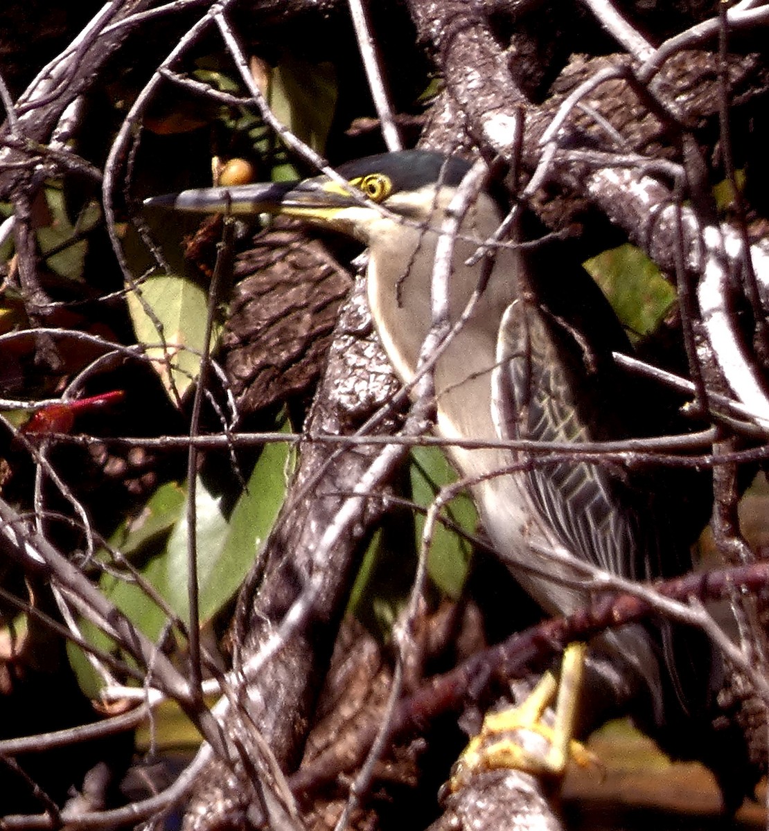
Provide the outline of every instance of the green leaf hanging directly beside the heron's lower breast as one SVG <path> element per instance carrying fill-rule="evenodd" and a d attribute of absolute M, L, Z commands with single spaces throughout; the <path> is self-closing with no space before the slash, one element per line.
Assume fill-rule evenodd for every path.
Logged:
<path fill-rule="evenodd" d="M 412 499 L 418 505 L 429 508 L 438 491 L 456 482 L 456 473 L 437 447 L 412 448 Z M 456 524 L 467 534 L 474 534 L 478 516 L 469 495 L 462 493 L 451 499 L 442 515 Z M 417 546 L 421 545 L 421 534 L 425 517 L 416 516 Z M 459 597 L 465 583 L 467 566 L 470 562 L 471 544 L 456 530 L 437 523 L 432 535 L 429 559 L 427 561 L 431 580 L 449 597 Z"/>

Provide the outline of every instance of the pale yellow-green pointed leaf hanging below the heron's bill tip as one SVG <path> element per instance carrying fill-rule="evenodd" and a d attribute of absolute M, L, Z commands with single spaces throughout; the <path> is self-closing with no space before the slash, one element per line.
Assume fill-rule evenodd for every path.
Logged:
<path fill-rule="evenodd" d="M 148 308 L 160 322 L 162 333 Z M 136 342 L 150 347 L 147 354 L 171 400 L 175 401 L 177 395 L 184 396 L 198 376 L 205 345 L 208 314 L 205 289 L 177 274 L 158 274 L 128 293 L 128 309 Z M 218 334 L 218 327 L 214 327 L 212 347 Z"/>

